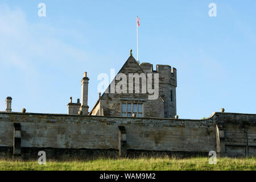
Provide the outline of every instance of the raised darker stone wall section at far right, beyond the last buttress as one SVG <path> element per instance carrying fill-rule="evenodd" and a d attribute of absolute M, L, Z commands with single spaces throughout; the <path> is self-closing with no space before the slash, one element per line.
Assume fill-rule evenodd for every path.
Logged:
<path fill-rule="evenodd" d="M 222 132 L 225 155 L 256 155 L 256 114 L 216 113 L 214 122 Z"/>

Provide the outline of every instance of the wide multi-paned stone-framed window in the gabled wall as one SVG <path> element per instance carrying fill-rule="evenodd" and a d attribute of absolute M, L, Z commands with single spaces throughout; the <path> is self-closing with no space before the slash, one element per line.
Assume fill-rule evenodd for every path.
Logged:
<path fill-rule="evenodd" d="M 122 110 L 122 105 L 125 104 L 126 105 L 126 109 L 125 111 Z M 131 111 L 128 111 L 127 105 L 131 104 Z M 137 111 L 134 111 L 133 107 L 134 105 L 137 105 Z M 142 111 L 139 111 L 139 105 L 142 105 Z M 126 115 L 123 115 L 123 113 L 126 113 Z M 128 113 L 130 114 L 128 116 Z M 121 116 L 122 117 L 132 117 L 133 114 L 136 114 L 137 118 L 143 118 L 144 117 L 144 104 L 143 102 L 121 102 Z M 139 114 L 141 114 L 141 116 L 139 116 Z"/>

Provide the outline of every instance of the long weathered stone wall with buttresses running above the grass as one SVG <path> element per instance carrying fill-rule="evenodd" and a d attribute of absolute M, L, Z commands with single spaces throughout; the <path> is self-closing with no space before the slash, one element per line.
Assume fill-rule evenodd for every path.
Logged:
<path fill-rule="evenodd" d="M 20 124 L 23 158 L 36 158 L 40 150 L 52 158 L 104 152 L 125 156 L 131 151 L 256 154 L 256 114 L 214 113 L 208 119 L 191 120 L 0 112 L 0 156 L 19 152 L 14 123 Z"/>

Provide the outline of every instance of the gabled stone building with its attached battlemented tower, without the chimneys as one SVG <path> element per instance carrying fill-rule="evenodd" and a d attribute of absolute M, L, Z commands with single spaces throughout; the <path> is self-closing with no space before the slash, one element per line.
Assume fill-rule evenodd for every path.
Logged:
<path fill-rule="evenodd" d="M 115 77 L 106 91 L 98 99 L 89 115 L 105 115 L 105 116 L 121 116 L 121 117 L 145 117 L 145 118 L 175 118 L 176 115 L 176 69 L 171 68 L 170 65 L 156 65 L 156 70 L 153 70 L 152 64 L 142 63 L 139 64 L 134 59 L 132 53 L 127 59 L 123 67 L 118 72 L 126 77 L 125 89 L 129 88 L 129 92 L 109 93 L 112 86 L 118 88 L 119 77 Z M 133 80 L 130 82 L 130 75 L 137 74 L 139 76 L 138 86 L 141 90 L 137 93 L 135 91 L 135 84 Z M 146 78 L 143 78 L 146 74 Z M 142 75 L 142 76 L 141 76 Z M 159 82 L 155 80 L 159 78 Z M 133 79 L 133 78 L 131 78 Z M 143 80 L 144 79 L 144 80 Z M 148 82 L 148 79 L 152 82 Z M 136 79 L 135 79 L 136 80 Z M 147 92 L 142 93 L 142 82 L 147 80 Z M 155 82 L 156 81 L 156 82 Z M 155 84 L 156 88 L 155 88 Z M 154 85 L 153 85 L 154 83 Z M 148 85 L 152 84 L 152 85 Z M 130 85 L 131 92 L 130 92 Z M 150 93 L 150 87 L 154 89 L 154 96 Z M 157 86 L 159 86 L 157 88 Z M 126 90 L 125 90 L 126 91 Z M 145 92 L 145 91 L 144 91 Z"/>

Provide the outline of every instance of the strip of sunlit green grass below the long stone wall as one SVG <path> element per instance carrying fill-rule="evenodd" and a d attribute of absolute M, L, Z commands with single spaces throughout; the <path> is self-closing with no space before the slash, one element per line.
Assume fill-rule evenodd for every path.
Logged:
<path fill-rule="evenodd" d="M 217 158 L 216 165 L 208 163 L 209 158 L 101 158 L 88 161 L 47 161 L 39 165 L 34 161 L 0 160 L 0 170 L 256 170 L 256 158 Z"/>

